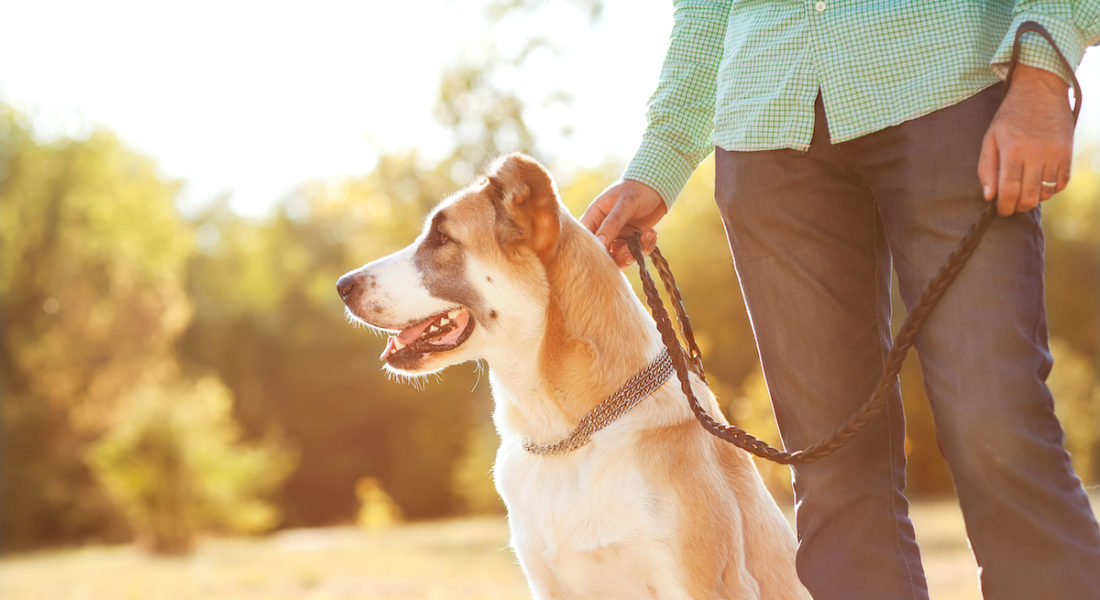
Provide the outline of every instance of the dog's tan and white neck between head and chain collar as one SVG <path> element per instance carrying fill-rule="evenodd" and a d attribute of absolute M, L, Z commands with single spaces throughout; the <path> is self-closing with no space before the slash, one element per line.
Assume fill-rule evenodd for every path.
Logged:
<path fill-rule="evenodd" d="M 531 352 L 490 363 L 502 433 L 552 441 L 652 361 L 660 338 L 626 279 L 575 221 L 546 261 L 549 305 Z"/>

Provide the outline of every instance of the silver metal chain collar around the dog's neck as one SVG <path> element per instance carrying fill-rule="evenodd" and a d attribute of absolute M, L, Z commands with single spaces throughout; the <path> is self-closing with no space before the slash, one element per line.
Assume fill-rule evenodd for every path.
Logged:
<path fill-rule="evenodd" d="M 668 381 L 671 374 L 672 358 L 669 357 L 668 349 L 662 348 L 660 356 L 653 362 L 635 373 L 618 391 L 588 411 L 588 414 L 581 418 L 581 423 L 568 436 L 551 444 L 525 439 L 524 449 L 532 455 L 546 456 L 570 452 L 584 446 L 593 434 L 637 406 L 639 402 Z"/>

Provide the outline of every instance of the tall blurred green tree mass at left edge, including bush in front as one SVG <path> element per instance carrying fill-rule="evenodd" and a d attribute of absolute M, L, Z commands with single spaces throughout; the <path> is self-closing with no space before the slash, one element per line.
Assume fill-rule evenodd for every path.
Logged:
<path fill-rule="evenodd" d="M 117 503 L 168 546 L 169 530 L 184 533 L 189 522 L 235 531 L 274 522 L 254 497 L 286 474 L 285 457 L 234 445 L 228 396 L 209 377 L 193 385 L 164 375 L 177 372 L 176 343 L 191 317 L 184 276 L 194 242 L 175 209 L 177 188 L 108 132 L 42 142 L 0 107 L 6 550 L 121 537 Z M 111 497 L 86 461 L 108 430 L 92 462 Z M 230 449 L 230 458 L 218 454 Z M 129 476 L 145 476 L 129 477 L 131 467 Z M 174 493 L 154 494 L 146 500 L 157 512 L 135 500 L 177 483 L 201 501 L 185 494 L 184 512 L 173 512 Z"/>

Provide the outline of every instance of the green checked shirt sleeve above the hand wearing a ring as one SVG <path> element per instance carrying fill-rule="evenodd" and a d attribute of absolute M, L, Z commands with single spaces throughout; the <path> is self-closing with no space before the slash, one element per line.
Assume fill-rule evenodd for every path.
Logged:
<path fill-rule="evenodd" d="M 1002 79 L 1009 72 L 1012 44 L 1016 29 L 1025 21 L 1035 21 L 1046 28 L 1058 50 L 1075 69 L 1085 55 L 1085 48 L 1100 42 L 1100 0 L 1019 0 L 1013 8 L 1012 25 L 997 48 L 990 66 Z M 1020 62 L 1056 73 L 1071 80 L 1057 54 L 1040 35 L 1024 35 L 1020 41 Z"/>

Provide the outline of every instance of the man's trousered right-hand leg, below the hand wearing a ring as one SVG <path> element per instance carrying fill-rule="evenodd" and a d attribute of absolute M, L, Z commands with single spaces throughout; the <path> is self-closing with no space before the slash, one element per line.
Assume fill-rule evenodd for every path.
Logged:
<path fill-rule="evenodd" d="M 837 146 L 879 201 L 910 306 L 986 208 L 975 167 L 1001 95 Z M 993 223 L 916 349 L 986 597 L 1100 597 L 1100 532 L 1045 384 L 1038 210 Z"/>

